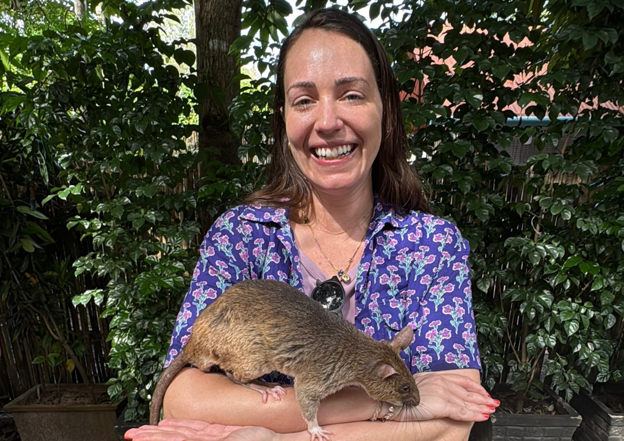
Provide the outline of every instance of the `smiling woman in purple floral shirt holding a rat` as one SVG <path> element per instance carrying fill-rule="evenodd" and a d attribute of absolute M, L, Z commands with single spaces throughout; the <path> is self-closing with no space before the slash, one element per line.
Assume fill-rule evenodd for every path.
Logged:
<path fill-rule="evenodd" d="M 374 339 L 414 329 L 400 355 L 421 403 L 402 411 L 347 387 L 323 401 L 318 423 L 335 440 L 467 439 L 472 422 L 498 405 L 479 384 L 469 246 L 456 226 L 428 213 L 407 163 L 396 80 L 372 32 L 336 9 L 306 16 L 281 48 L 274 111 L 269 183 L 205 236 L 167 365 L 200 311 L 232 284 L 275 279 L 317 299 L 331 282 L 344 299 L 339 314 Z M 265 380 L 289 382 L 278 372 Z M 165 393 L 173 420 L 127 436 L 308 440 L 295 395 L 261 405 L 254 390 L 188 367 Z"/>

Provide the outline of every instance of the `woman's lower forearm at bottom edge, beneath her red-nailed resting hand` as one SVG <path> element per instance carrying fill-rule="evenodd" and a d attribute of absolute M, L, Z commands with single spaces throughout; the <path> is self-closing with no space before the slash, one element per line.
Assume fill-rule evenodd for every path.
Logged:
<path fill-rule="evenodd" d="M 336 441 L 466 441 L 472 422 L 451 419 L 419 422 L 360 421 L 344 424 L 323 425 Z M 310 441 L 307 431 L 279 435 L 283 441 Z"/>

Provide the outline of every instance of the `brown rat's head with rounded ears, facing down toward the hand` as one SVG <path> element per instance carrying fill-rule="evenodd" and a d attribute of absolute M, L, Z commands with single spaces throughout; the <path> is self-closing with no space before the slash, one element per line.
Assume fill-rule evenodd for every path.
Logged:
<path fill-rule="evenodd" d="M 414 331 L 406 326 L 391 342 L 380 342 L 371 369 L 363 381 L 364 389 L 372 399 L 395 405 L 416 406 L 420 403 L 414 377 L 399 356 L 399 352 L 409 346 L 413 338 Z"/>

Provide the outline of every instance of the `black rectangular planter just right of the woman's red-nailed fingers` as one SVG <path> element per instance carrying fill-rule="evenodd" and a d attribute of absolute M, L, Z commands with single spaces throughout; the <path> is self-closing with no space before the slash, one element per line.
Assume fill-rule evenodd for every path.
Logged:
<path fill-rule="evenodd" d="M 476 423 L 470 440 L 474 441 L 570 441 L 581 423 L 572 406 L 545 387 L 555 400 L 559 415 L 518 415 L 496 412 L 489 420 Z M 494 395 L 493 395 L 494 396 Z"/>

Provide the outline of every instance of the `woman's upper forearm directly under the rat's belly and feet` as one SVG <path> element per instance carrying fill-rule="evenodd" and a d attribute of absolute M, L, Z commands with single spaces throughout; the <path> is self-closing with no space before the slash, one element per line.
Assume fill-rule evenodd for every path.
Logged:
<path fill-rule="evenodd" d="M 281 434 L 307 427 L 292 387 L 286 387 L 286 396 L 280 401 L 269 397 L 263 404 L 261 394 L 255 390 L 235 384 L 222 374 L 193 368 L 183 369 L 173 379 L 165 392 L 163 408 L 165 418 L 263 426 Z M 318 422 L 332 425 L 363 421 L 372 417 L 375 409 L 376 402 L 363 389 L 348 387 L 323 400 Z"/>

